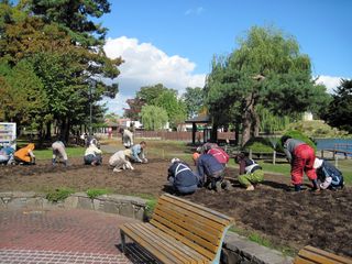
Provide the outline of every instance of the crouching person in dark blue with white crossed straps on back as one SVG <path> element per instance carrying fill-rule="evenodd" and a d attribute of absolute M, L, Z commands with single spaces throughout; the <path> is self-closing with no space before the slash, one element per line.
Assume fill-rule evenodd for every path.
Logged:
<path fill-rule="evenodd" d="M 182 195 L 193 194 L 197 190 L 199 178 L 191 168 L 179 158 L 174 157 L 169 166 L 167 180 L 172 184 L 176 193 Z"/>

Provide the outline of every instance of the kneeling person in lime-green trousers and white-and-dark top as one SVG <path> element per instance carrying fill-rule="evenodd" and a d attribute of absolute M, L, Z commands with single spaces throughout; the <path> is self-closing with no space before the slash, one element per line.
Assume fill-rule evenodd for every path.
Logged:
<path fill-rule="evenodd" d="M 235 163 L 240 165 L 239 182 L 246 190 L 254 190 L 254 185 L 264 180 L 262 167 L 253 160 L 246 157 L 243 153 L 234 157 Z"/>

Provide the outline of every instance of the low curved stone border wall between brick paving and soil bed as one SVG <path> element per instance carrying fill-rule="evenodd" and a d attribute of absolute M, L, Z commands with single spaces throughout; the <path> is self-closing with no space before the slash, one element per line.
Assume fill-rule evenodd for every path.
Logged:
<path fill-rule="evenodd" d="M 102 195 L 90 199 L 85 193 L 70 195 L 63 201 L 52 202 L 44 194 L 33 191 L 0 193 L 0 210 L 4 209 L 86 209 L 144 220 L 147 200 L 123 195 Z M 228 232 L 222 249 L 222 262 L 227 264 L 289 264 L 293 258 L 280 252 L 258 245 L 233 232 Z"/>

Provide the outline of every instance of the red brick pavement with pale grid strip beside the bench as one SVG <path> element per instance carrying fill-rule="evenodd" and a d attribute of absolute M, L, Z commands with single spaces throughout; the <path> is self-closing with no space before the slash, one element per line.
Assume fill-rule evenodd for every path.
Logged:
<path fill-rule="evenodd" d="M 79 209 L 0 210 L 0 263 L 148 262 L 117 248 L 118 227 L 127 221 L 135 220 Z"/>

